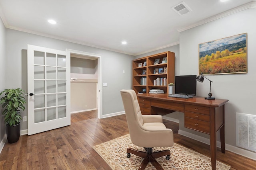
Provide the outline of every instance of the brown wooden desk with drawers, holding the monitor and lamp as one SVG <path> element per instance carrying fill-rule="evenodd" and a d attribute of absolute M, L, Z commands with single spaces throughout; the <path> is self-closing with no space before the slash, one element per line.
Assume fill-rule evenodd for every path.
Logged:
<path fill-rule="evenodd" d="M 216 170 L 216 132 L 220 130 L 221 152 L 225 153 L 224 105 L 228 100 L 171 98 L 168 94 L 138 94 L 137 97 L 142 114 L 184 112 L 184 127 L 209 134 L 212 170 Z"/>

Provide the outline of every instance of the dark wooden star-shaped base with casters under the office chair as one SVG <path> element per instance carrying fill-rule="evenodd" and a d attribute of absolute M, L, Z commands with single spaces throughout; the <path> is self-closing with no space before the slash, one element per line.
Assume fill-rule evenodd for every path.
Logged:
<path fill-rule="evenodd" d="M 156 161 L 156 158 L 167 155 L 166 159 L 169 160 L 171 155 L 170 150 L 161 150 L 158 152 L 152 152 L 152 148 L 145 148 L 145 150 L 146 152 L 132 148 L 127 148 L 127 157 L 130 158 L 130 154 L 132 153 L 136 156 L 144 158 L 138 170 L 144 170 L 148 165 L 148 162 L 151 162 L 157 170 L 164 170 L 164 168 L 162 168 L 162 166 Z"/>

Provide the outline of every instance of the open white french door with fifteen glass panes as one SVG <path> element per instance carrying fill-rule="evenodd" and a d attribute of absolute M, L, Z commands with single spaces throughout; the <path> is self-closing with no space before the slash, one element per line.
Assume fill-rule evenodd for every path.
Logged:
<path fill-rule="evenodd" d="M 28 135 L 70 125 L 70 58 L 28 45 Z"/>

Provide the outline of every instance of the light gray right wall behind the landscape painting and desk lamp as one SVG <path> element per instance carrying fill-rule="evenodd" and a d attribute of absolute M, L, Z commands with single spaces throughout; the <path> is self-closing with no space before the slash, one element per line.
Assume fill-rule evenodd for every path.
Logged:
<path fill-rule="evenodd" d="M 214 82 L 213 96 L 229 100 L 225 105 L 225 142 L 232 146 L 236 146 L 236 112 L 256 115 L 255 16 L 256 9 L 250 8 L 180 33 L 180 74 L 198 74 L 198 44 L 248 33 L 248 73 L 206 76 Z M 198 82 L 197 95 L 207 96 L 209 88 L 209 81 Z M 183 119 L 180 119 L 180 129 L 195 133 L 184 128 L 181 121 Z"/>

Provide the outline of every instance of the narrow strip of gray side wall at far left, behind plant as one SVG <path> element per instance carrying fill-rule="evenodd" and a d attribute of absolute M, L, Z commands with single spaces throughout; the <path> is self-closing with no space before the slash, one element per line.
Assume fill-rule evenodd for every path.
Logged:
<path fill-rule="evenodd" d="M 0 19 L 0 92 L 5 89 L 5 41 L 6 29 L 2 20 Z M 2 116 L 2 107 L 0 107 L 0 142 L 5 134 L 4 117 Z"/>

